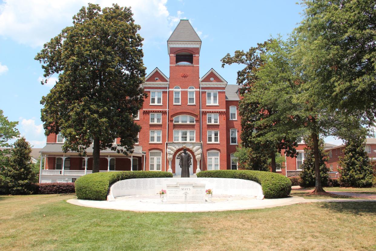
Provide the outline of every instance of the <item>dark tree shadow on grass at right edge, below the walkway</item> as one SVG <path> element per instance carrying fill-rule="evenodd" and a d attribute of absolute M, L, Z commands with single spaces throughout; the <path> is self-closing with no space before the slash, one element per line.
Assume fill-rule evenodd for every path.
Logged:
<path fill-rule="evenodd" d="M 321 208 L 337 211 L 340 213 L 367 214 L 376 216 L 376 202 L 325 202 L 320 204 Z"/>

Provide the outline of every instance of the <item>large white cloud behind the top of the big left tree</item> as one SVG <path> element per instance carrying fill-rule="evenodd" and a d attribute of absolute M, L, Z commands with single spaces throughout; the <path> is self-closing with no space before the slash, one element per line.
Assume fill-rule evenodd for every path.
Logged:
<path fill-rule="evenodd" d="M 91 2 L 102 8 L 113 3 L 112 0 Z M 144 43 L 158 38 L 165 42 L 171 26 L 176 24 L 176 18 L 183 14 L 178 11 L 177 17 L 170 17 L 167 0 L 118 0 L 117 3 L 132 7 L 133 18 L 141 25 Z M 0 4 L 0 35 L 28 46 L 42 46 L 64 27 L 70 26 L 73 15 L 82 6 L 87 6 L 86 0 L 4 0 Z"/>

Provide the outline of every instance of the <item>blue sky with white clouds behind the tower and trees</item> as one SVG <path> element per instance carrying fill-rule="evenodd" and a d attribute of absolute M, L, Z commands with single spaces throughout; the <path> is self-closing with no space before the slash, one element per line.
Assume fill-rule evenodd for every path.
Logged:
<path fill-rule="evenodd" d="M 42 68 L 33 58 L 50 38 L 70 26 L 71 17 L 88 0 L 0 0 L 0 109 L 35 147 L 45 145 L 40 120 L 41 97 L 53 87 L 41 85 Z M 167 39 L 180 19 L 189 19 L 202 39 L 200 75 L 214 68 L 235 84 L 241 66 L 221 68 L 220 59 L 235 50 L 247 50 L 270 36 L 290 33 L 300 22 L 302 6 L 296 0 L 196 1 L 98 0 L 100 6 L 117 2 L 132 6 L 141 25 L 147 73 L 158 67 L 169 75 Z M 340 143 L 327 138 L 329 143 Z"/>

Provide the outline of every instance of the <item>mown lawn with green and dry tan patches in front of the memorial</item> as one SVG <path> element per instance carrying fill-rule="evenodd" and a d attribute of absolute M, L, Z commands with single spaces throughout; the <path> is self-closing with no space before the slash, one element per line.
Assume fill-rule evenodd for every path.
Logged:
<path fill-rule="evenodd" d="M 70 198 L 0 196 L 0 250 L 376 249 L 376 202 L 136 213 L 71 205 Z"/>

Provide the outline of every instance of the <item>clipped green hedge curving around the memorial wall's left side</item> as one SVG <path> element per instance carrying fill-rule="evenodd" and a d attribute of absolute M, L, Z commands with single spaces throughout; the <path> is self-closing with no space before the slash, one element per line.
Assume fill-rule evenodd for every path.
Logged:
<path fill-rule="evenodd" d="M 75 182 L 78 199 L 105 201 L 109 186 L 119 180 L 136 178 L 172 178 L 169 172 L 119 171 L 86 174 Z"/>

